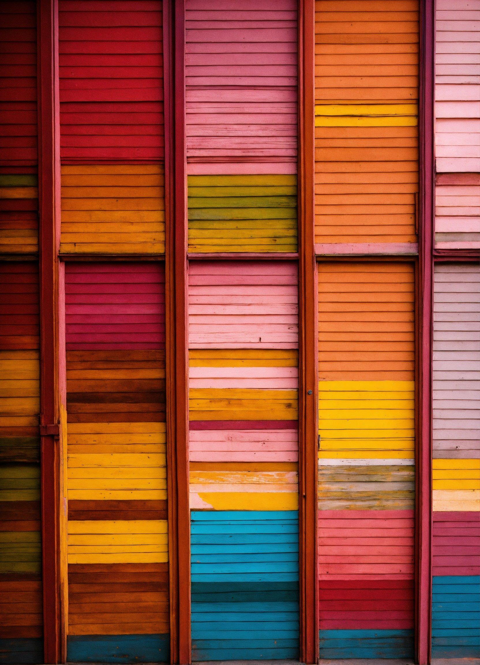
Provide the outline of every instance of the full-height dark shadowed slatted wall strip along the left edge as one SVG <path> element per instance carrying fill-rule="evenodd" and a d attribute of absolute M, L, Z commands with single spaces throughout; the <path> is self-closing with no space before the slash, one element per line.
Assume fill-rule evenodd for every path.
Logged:
<path fill-rule="evenodd" d="M 0 2 L 0 660 L 41 662 L 37 9 Z"/>

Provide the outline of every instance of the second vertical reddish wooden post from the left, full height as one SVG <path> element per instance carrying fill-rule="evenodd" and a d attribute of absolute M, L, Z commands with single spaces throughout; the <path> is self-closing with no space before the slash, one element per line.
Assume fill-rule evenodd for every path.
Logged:
<path fill-rule="evenodd" d="M 166 367 L 172 663 L 191 660 L 185 3 L 164 0 Z"/>

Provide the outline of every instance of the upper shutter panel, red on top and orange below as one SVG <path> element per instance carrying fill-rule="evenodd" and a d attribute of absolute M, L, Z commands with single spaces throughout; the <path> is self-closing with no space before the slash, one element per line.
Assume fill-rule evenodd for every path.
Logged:
<path fill-rule="evenodd" d="M 60 251 L 165 248 L 162 2 L 60 0 Z"/>

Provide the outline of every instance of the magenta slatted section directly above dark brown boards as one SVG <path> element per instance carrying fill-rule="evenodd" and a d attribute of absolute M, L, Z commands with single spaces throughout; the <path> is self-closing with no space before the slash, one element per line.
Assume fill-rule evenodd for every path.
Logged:
<path fill-rule="evenodd" d="M 66 263 L 67 350 L 159 349 L 165 344 L 160 263 Z"/>

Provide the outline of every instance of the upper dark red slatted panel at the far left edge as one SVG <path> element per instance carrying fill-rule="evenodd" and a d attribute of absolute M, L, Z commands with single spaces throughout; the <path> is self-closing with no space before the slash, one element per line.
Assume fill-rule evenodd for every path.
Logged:
<path fill-rule="evenodd" d="M 37 6 L 0 1 L 0 254 L 38 251 Z"/>

